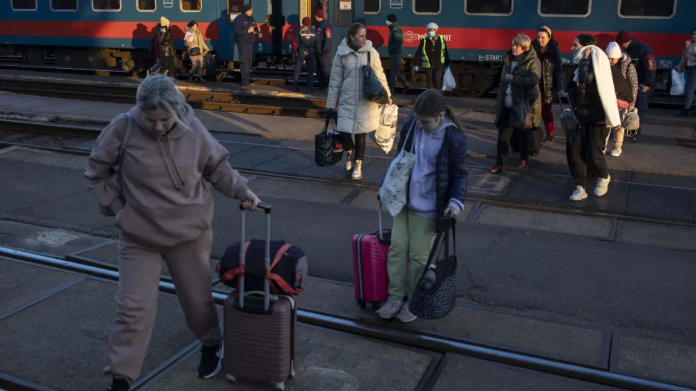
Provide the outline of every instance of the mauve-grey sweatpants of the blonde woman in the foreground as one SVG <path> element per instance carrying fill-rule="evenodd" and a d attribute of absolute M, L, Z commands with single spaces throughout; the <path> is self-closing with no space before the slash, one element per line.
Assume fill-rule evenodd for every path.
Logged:
<path fill-rule="evenodd" d="M 105 374 L 125 378 L 131 384 L 140 376 L 155 326 L 163 260 L 189 329 L 203 345 L 221 341 L 209 266 L 212 239 L 212 230 L 208 230 L 198 239 L 172 248 L 149 248 L 121 234 L 116 320 L 109 337 L 109 366 L 104 369 Z"/>

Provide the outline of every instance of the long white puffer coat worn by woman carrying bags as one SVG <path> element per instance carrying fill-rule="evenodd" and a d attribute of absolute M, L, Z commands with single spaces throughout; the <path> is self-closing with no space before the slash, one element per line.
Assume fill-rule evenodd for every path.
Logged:
<path fill-rule="evenodd" d="M 368 54 L 372 72 L 391 96 L 379 53 L 372 47 L 372 42 L 367 40 L 365 46 L 354 51 L 343 38 L 333 58 L 329 95 L 326 97 L 326 107 L 334 109 L 338 105 L 338 131 L 361 134 L 375 131 L 379 126 L 379 104 L 363 98 L 360 66 L 367 65 Z"/>

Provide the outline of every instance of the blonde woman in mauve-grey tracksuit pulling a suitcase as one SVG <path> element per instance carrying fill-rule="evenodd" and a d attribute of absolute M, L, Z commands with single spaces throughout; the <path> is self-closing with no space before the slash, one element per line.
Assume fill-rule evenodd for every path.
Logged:
<path fill-rule="evenodd" d="M 221 331 L 209 272 L 213 197 L 206 182 L 246 209 L 257 209 L 260 202 L 171 79 L 152 74 L 138 87 L 136 101 L 97 138 L 84 174 L 120 229 L 118 309 L 104 370 L 113 377 L 111 391 L 129 390 L 140 376 L 163 261 L 187 325 L 203 344 L 196 374 L 209 378 L 219 372 Z M 122 143 L 123 199 L 109 186 Z"/>

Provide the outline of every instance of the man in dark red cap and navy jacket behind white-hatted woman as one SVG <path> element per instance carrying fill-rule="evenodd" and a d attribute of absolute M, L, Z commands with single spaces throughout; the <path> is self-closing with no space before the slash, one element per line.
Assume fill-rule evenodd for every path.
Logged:
<path fill-rule="evenodd" d="M 638 133 L 631 137 L 633 143 L 638 141 L 640 131 L 648 112 L 648 91 L 655 86 L 655 73 L 657 63 L 651 47 L 631 36 L 626 30 L 620 31 L 616 36 L 616 43 L 621 45 L 628 56 L 631 56 L 635 71 L 638 73 L 638 97 L 635 98 L 635 108 L 638 109 L 640 127 Z"/>

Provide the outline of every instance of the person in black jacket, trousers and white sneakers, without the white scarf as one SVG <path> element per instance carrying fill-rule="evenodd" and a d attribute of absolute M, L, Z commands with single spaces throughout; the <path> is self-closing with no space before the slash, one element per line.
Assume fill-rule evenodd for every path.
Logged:
<path fill-rule="evenodd" d="M 596 170 L 596 175 L 599 176 L 594 188 L 594 195 L 597 197 L 606 194 L 611 181 L 602 152 L 608 136 L 608 124 L 594 74 L 591 48 L 585 49 L 582 54 L 578 55 L 578 51 L 590 45 L 595 47 L 597 45 L 594 35 L 580 34 L 576 37 L 573 44 L 573 54 L 576 64 L 578 64 L 577 81 L 571 80 L 568 83 L 571 104 L 578 119 L 578 127 L 569 132 L 566 142 L 568 166 L 576 184 L 576 191 L 570 196 L 571 201 L 587 198 L 585 188 L 587 187 L 588 171 L 592 173 Z M 606 56 L 603 51 L 602 54 Z M 608 58 L 606 61 L 606 65 L 609 65 Z M 608 83 L 613 84 L 610 74 L 608 77 Z M 613 85 L 611 87 L 613 91 Z"/>

